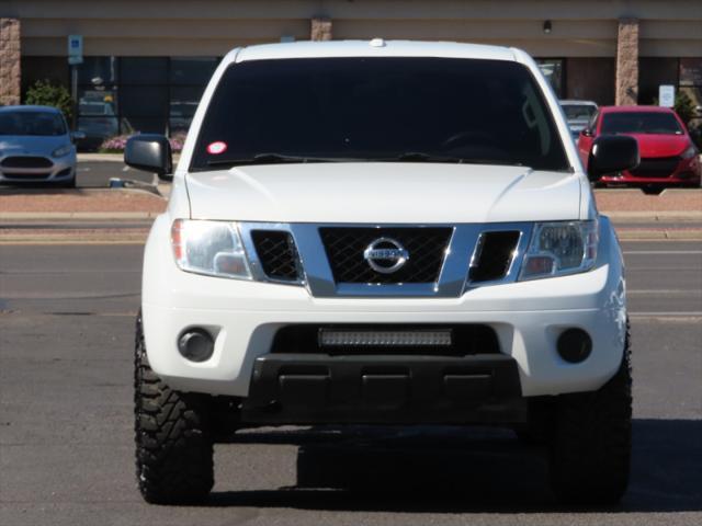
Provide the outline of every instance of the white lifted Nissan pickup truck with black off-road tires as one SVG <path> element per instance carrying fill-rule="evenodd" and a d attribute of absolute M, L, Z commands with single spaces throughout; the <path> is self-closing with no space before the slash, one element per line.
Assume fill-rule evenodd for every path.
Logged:
<path fill-rule="evenodd" d="M 600 137 L 589 175 L 637 156 Z M 165 137 L 125 161 L 171 174 Z M 148 502 L 205 499 L 215 435 L 260 424 L 501 425 L 548 445 L 563 501 L 624 493 L 622 256 L 526 54 L 235 49 L 172 180 L 137 320 Z"/>

